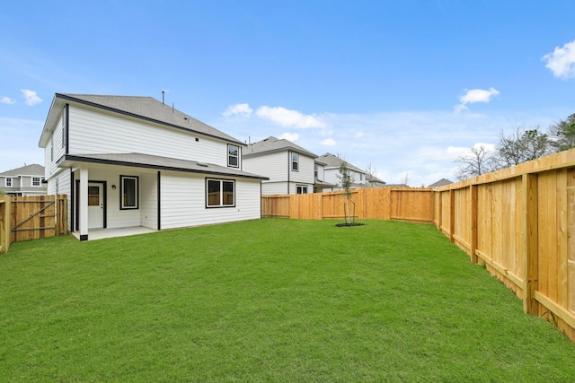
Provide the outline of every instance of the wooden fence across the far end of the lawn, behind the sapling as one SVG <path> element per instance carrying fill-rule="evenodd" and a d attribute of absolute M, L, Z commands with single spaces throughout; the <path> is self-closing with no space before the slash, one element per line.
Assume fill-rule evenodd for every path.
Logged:
<path fill-rule="evenodd" d="M 349 212 L 355 219 L 433 222 L 429 188 L 366 187 L 354 189 Z M 341 191 L 261 196 L 261 216 L 301 220 L 345 219 Z"/>

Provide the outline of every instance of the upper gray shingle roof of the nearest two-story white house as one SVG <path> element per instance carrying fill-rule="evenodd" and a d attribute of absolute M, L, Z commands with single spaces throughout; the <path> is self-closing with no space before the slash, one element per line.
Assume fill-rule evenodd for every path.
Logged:
<path fill-rule="evenodd" d="M 40 147 L 45 147 L 48 144 L 49 135 L 56 127 L 59 111 L 64 108 L 66 103 L 74 102 L 244 145 L 243 142 L 231 135 L 226 135 L 215 127 L 208 126 L 152 97 L 56 93 L 40 136 Z"/>

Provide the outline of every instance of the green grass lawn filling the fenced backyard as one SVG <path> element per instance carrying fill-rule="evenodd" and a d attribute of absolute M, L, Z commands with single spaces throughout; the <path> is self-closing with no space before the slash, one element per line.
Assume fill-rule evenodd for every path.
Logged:
<path fill-rule="evenodd" d="M 575 381 L 435 227 L 264 219 L 0 256 L 0 381 Z"/>

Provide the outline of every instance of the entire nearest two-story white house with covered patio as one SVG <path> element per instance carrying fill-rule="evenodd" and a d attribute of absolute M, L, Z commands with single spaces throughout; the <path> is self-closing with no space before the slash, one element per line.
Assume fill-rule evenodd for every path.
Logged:
<path fill-rule="evenodd" d="M 245 144 L 151 97 L 57 93 L 39 145 L 81 240 L 261 217 L 266 178 L 243 171 Z"/>

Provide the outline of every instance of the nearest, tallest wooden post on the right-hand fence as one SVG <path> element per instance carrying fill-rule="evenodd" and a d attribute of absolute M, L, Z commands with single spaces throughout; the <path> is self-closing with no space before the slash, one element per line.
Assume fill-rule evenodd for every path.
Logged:
<path fill-rule="evenodd" d="M 523 181 L 523 258 L 525 277 L 523 278 L 523 310 L 527 314 L 539 315 L 539 302 L 535 291 L 539 283 L 538 259 L 538 195 L 537 175 L 524 174 Z"/>

